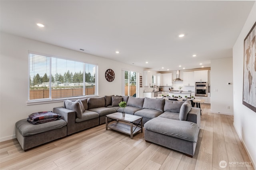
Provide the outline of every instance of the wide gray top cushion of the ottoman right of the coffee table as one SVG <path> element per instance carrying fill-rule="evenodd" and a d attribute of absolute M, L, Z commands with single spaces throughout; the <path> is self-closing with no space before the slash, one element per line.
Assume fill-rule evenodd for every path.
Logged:
<path fill-rule="evenodd" d="M 152 132 L 180 138 L 190 142 L 197 142 L 200 129 L 196 123 L 193 122 L 177 121 L 162 117 L 156 117 L 146 122 L 144 128 Z"/>

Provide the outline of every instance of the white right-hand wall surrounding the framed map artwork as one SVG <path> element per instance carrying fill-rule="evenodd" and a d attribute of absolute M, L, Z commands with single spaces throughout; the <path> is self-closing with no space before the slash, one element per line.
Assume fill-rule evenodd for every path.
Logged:
<path fill-rule="evenodd" d="M 256 2 L 233 47 L 234 79 L 234 127 L 241 138 L 247 153 L 256 166 L 256 113 L 242 104 L 244 38 L 256 22 Z"/>

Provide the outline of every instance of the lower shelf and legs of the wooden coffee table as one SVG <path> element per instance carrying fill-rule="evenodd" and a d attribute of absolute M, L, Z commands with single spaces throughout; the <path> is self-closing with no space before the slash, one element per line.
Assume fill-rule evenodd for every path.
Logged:
<path fill-rule="evenodd" d="M 128 125 L 128 124 L 124 124 L 124 123 L 120 123 L 120 122 L 115 122 L 115 123 L 111 123 L 108 124 L 107 128 L 116 130 L 118 132 L 122 132 L 125 134 L 129 134 L 132 138 L 132 136 L 134 134 L 136 134 L 137 132 L 139 132 L 141 130 L 140 127 L 136 127 L 135 125 Z M 132 134 L 132 135 L 131 135 Z"/>

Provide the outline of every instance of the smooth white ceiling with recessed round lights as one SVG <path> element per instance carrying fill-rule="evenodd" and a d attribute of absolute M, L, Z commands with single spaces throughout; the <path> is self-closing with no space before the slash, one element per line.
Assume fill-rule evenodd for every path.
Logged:
<path fill-rule="evenodd" d="M 194 69 L 232 57 L 254 3 L 1 0 L 1 31 L 155 71 Z"/>

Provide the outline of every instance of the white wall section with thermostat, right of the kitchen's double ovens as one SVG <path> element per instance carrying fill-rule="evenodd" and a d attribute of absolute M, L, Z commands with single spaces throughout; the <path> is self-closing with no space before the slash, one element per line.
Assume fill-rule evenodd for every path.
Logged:
<path fill-rule="evenodd" d="M 211 60 L 211 112 L 233 115 L 232 57 Z M 228 85 L 231 83 L 231 85 Z M 227 109 L 227 106 L 230 109 Z"/>

